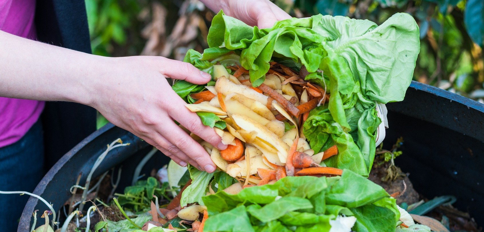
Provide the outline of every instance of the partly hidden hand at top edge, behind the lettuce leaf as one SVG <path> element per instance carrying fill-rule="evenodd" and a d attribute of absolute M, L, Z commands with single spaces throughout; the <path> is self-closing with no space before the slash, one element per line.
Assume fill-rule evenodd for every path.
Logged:
<path fill-rule="evenodd" d="M 201 0 L 212 11 L 224 10 L 224 14 L 235 17 L 250 26 L 270 28 L 276 21 L 291 18 L 269 0 Z"/>

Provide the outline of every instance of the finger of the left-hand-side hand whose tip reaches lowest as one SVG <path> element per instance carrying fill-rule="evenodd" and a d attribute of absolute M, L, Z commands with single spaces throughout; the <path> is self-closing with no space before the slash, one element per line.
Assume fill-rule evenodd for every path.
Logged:
<path fill-rule="evenodd" d="M 163 127 L 157 128 L 157 130 L 160 134 L 169 134 L 170 136 L 166 136 L 168 141 L 179 148 L 181 152 L 187 154 L 192 160 L 195 160 L 197 166 L 201 167 L 202 170 L 209 173 L 215 171 L 215 165 L 207 151 L 174 122 L 167 122 Z M 170 149 L 173 149 L 173 147 L 170 146 L 168 150 Z M 172 151 L 170 150 L 170 152 Z"/>

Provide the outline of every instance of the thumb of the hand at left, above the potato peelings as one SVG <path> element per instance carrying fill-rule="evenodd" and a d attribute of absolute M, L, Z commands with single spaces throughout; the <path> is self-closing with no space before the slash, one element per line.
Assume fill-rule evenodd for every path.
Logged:
<path fill-rule="evenodd" d="M 202 72 L 190 63 L 173 59 L 164 59 L 160 73 L 178 80 L 185 80 L 193 84 L 207 84 L 212 79 L 209 73 Z"/>

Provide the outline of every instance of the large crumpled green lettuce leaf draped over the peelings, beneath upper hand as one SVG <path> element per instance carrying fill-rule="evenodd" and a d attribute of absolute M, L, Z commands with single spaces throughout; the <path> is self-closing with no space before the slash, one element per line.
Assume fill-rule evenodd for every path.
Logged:
<path fill-rule="evenodd" d="M 415 20 L 397 13 L 378 26 L 368 20 L 314 15 L 278 21 L 258 29 L 219 12 L 209 30 L 206 59 L 233 51 L 260 85 L 269 62 L 304 65 L 306 80 L 331 95 L 304 123 L 304 135 L 316 152 L 337 145 L 331 167 L 367 176 L 374 159 L 375 133 L 381 120 L 376 102 L 402 101 L 420 49 Z M 204 55 L 205 56 L 205 55 Z"/>

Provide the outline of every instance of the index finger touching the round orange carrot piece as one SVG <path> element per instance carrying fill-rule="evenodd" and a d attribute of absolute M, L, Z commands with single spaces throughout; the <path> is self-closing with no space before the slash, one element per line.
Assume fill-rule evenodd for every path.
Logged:
<path fill-rule="evenodd" d="M 181 98 L 174 100 L 173 106 L 184 105 L 185 102 Z M 192 131 L 198 137 L 207 141 L 209 144 L 217 147 L 219 150 L 225 150 L 227 145 L 222 143 L 222 138 L 209 126 L 204 126 L 200 117 L 196 113 L 189 111 L 186 107 L 173 108 L 168 110 L 168 115 L 183 125 L 189 131 Z"/>

